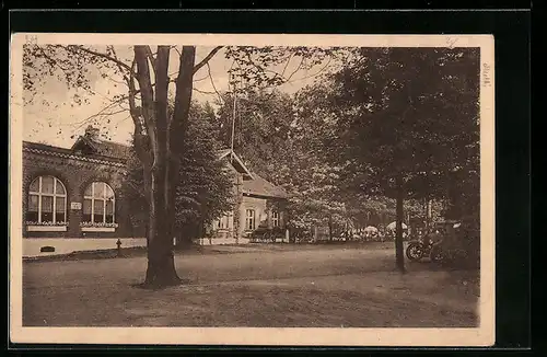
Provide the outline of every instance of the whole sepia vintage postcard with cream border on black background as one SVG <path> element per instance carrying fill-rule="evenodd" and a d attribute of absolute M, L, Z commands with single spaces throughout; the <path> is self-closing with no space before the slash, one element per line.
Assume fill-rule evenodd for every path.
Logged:
<path fill-rule="evenodd" d="M 13 34 L 11 341 L 492 345 L 493 48 Z"/>

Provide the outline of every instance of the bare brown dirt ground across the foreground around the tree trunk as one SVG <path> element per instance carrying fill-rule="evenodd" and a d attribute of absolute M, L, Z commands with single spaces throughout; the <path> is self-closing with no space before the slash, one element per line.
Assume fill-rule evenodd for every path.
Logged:
<path fill-rule="evenodd" d="M 24 326 L 472 327 L 477 272 L 394 270 L 393 243 L 211 246 L 176 256 L 188 283 L 137 285 L 146 257 L 23 265 Z"/>

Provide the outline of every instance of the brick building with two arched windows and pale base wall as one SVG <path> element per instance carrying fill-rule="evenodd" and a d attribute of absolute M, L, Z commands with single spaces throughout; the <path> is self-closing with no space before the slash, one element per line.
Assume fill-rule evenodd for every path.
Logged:
<path fill-rule="evenodd" d="M 119 199 L 129 147 L 88 128 L 72 148 L 23 142 L 23 254 L 146 245 Z M 62 239 L 62 240 L 59 240 Z"/>

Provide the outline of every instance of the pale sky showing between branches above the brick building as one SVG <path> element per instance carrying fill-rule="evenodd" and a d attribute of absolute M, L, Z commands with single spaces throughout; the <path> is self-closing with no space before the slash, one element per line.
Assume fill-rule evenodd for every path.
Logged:
<path fill-rule="evenodd" d="M 212 47 L 197 47 L 196 64 L 199 62 Z M 117 46 L 116 51 L 119 58 L 130 65 L 132 59 L 131 46 Z M 300 60 L 293 58 L 286 69 L 287 73 L 292 73 Z M 218 100 L 214 89 L 219 92 L 229 90 L 228 70 L 232 60 L 225 59 L 223 50 L 219 51 L 210 61 L 211 77 L 208 74 L 207 66 L 200 68 L 194 76 L 193 99 L 199 102 L 210 102 Z M 279 90 L 289 94 L 295 93 L 301 88 L 312 84 L 316 73 L 322 72 L 324 62 L 310 70 L 300 69 L 292 76 L 290 82 L 279 87 Z M 284 68 L 284 65 L 282 66 Z M 171 51 L 170 73 L 176 73 L 178 68 L 178 54 Z M 271 69 L 282 72 L 283 68 L 272 67 Z M 100 117 L 93 122 L 91 116 L 100 113 L 109 103 L 115 94 L 127 94 L 127 87 L 116 83 L 120 78 L 102 78 L 96 70 L 92 71 L 90 79 L 92 90 L 95 94 L 82 93 L 69 90 L 67 85 L 56 77 L 40 78 L 40 91 L 35 96 L 32 104 L 23 107 L 23 139 L 26 141 L 42 142 L 51 146 L 70 148 L 79 135 L 82 135 L 90 124 L 98 127 L 103 133 L 108 134 L 108 139 L 116 142 L 128 143 L 133 131 L 133 124 L 129 117 L 127 104 L 115 106 L 104 113 L 112 115 Z M 110 74 L 110 73 L 106 73 Z M 211 82 L 211 78 L 213 83 Z M 214 85 L 214 87 L 213 87 Z M 170 88 L 171 90 L 172 88 Z M 88 104 L 78 105 L 72 101 L 73 94 L 78 93 L 89 100 Z"/>

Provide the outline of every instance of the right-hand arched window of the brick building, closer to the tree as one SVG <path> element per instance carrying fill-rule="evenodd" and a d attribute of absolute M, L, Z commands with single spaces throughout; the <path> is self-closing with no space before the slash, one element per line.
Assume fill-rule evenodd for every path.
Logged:
<path fill-rule="evenodd" d="M 85 188 L 83 194 L 83 222 L 114 223 L 114 191 L 108 184 L 94 182 Z"/>

